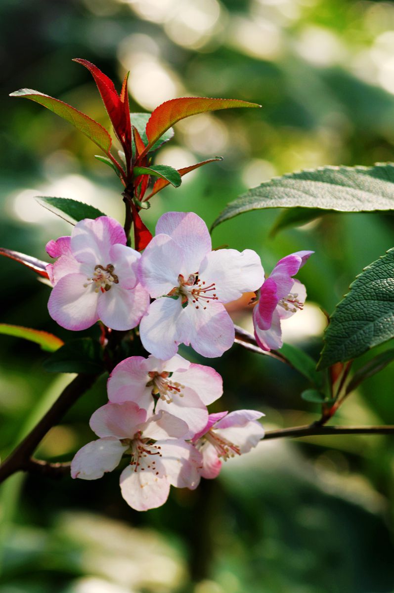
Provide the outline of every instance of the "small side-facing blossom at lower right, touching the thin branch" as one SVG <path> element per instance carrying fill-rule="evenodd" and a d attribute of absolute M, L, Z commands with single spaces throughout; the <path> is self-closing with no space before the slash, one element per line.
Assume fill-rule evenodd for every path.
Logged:
<path fill-rule="evenodd" d="M 257 419 L 264 416 L 256 410 L 237 410 L 209 414 L 205 428 L 193 437 L 196 448 L 202 454 L 204 478 L 215 478 L 221 470 L 221 460 L 247 453 L 264 436 L 264 429 Z"/>

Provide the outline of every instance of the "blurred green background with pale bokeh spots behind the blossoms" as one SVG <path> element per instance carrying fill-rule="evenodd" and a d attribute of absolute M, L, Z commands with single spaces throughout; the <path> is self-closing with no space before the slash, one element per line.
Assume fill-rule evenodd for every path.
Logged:
<path fill-rule="evenodd" d="M 34 88 L 107 126 L 93 79 L 72 58 L 96 63 L 118 88 L 131 71 L 132 111 L 188 94 L 263 105 L 176 125 L 157 163 L 224 160 L 155 196 L 144 212 L 152 231 L 168 210 L 194 211 L 210 225 L 240 193 L 278 174 L 393 160 L 394 2 L 2 0 L 0 14 L 3 247 L 47 259 L 46 242 L 69 234 L 37 195 L 72 197 L 122 220 L 122 188 L 93 158 L 97 148 L 43 107 L 8 97 Z M 288 321 L 285 339 L 317 359 L 320 307 L 331 313 L 355 275 L 392 247 L 393 219 L 327 215 L 272 238 L 278 215 L 244 214 L 215 229 L 212 241 L 255 249 L 267 272 L 285 254 L 316 251 L 299 275 L 309 304 Z M 1 264 L 0 322 L 69 339 L 47 314 L 47 286 L 11 260 Z M 247 315 L 234 315 L 250 329 Z M 72 375 L 43 371 L 45 353 L 31 343 L 1 336 L 0 352 L 4 458 Z M 300 398 L 306 380 L 277 361 L 234 346 L 208 364 L 224 377 L 216 410 L 262 410 L 267 428 L 318 415 Z M 393 382 L 390 367 L 367 380 L 336 423 L 393 423 Z M 88 419 L 105 400 L 103 377 L 37 456 L 70 460 L 93 439 Z M 121 498 L 117 471 L 97 482 L 17 474 L 0 490 L 0 593 L 393 592 L 392 445 L 385 436 L 263 441 L 225 464 L 220 479 L 173 491 L 144 514 Z"/>

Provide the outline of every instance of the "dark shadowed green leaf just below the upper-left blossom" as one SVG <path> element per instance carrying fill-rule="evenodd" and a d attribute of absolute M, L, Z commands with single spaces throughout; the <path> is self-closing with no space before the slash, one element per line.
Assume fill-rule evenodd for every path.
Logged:
<path fill-rule="evenodd" d="M 103 352 L 90 337 L 71 340 L 56 350 L 43 367 L 49 372 L 77 372 L 96 374 L 103 371 Z"/>

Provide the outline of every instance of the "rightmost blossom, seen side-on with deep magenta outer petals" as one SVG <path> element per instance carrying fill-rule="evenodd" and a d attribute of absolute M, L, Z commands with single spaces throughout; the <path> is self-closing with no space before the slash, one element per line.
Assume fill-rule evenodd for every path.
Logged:
<path fill-rule="evenodd" d="M 303 308 L 306 288 L 294 276 L 313 251 L 297 251 L 283 257 L 264 280 L 260 299 L 253 309 L 253 325 L 258 345 L 263 350 L 283 345 L 281 319 L 291 317 Z"/>

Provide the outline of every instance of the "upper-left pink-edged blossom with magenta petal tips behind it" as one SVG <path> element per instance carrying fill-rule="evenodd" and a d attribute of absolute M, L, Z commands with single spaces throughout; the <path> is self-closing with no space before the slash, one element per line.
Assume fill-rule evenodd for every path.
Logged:
<path fill-rule="evenodd" d="M 49 241 L 46 250 L 58 258 L 46 269 L 54 287 L 48 310 L 59 325 L 84 330 L 99 319 L 114 330 L 138 325 L 149 297 L 138 284 L 141 255 L 126 247 L 119 222 L 108 216 L 86 218 L 71 237 Z"/>

